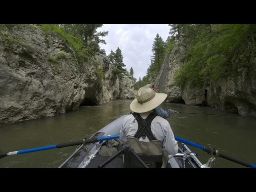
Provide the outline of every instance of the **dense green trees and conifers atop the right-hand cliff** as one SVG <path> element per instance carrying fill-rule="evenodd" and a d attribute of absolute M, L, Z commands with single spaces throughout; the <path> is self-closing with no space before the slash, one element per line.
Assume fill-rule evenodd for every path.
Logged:
<path fill-rule="evenodd" d="M 151 62 L 146 76 L 139 78 L 135 90 L 154 81 L 160 72 L 166 54 L 175 46 L 186 46 L 180 58 L 181 70 L 175 74 L 175 83 L 200 86 L 219 78 L 237 76 L 239 68 L 248 67 L 255 56 L 255 24 L 169 24 L 170 36 L 166 42 L 156 35 L 152 46 Z M 250 54 L 244 52 L 250 49 Z M 236 62 L 234 62 L 236 61 Z"/>

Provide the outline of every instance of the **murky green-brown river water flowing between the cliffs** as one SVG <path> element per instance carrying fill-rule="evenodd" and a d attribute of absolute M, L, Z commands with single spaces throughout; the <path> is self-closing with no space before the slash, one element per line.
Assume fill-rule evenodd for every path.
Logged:
<path fill-rule="evenodd" d="M 0 154 L 90 138 L 113 120 L 129 114 L 130 102 L 132 100 L 115 100 L 98 106 L 80 107 L 76 112 L 55 117 L 0 126 Z M 162 103 L 161 106 L 164 110 L 182 112 L 166 119 L 175 136 L 256 164 L 256 118 L 242 118 L 208 107 L 185 104 Z M 7 156 L 0 159 L 0 168 L 58 168 L 76 148 L 71 146 Z M 211 157 L 193 146 L 189 148 L 198 154 L 203 164 Z M 246 168 L 220 157 L 213 167 Z"/>

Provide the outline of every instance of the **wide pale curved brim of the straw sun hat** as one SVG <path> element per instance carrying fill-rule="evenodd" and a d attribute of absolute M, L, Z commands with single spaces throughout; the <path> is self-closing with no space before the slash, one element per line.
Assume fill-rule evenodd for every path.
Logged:
<path fill-rule="evenodd" d="M 159 106 L 162 102 L 164 102 L 166 97 L 166 93 L 156 93 L 154 98 L 143 104 L 140 104 L 138 100 L 135 98 L 130 104 L 130 109 L 136 113 L 148 112 Z"/>

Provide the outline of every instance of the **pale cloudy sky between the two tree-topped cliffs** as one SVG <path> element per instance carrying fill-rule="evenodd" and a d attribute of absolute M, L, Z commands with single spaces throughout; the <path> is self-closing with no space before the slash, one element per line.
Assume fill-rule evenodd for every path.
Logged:
<path fill-rule="evenodd" d="M 106 55 L 119 47 L 122 51 L 123 62 L 130 72 L 132 67 L 134 77 L 139 80 L 146 76 L 147 68 L 152 56 L 152 45 L 156 34 L 163 38 L 164 42 L 169 36 L 168 24 L 103 24 L 98 31 L 108 31 L 108 35 L 101 37 L 106 41 L 100 47 L 106 50 Z"/>

